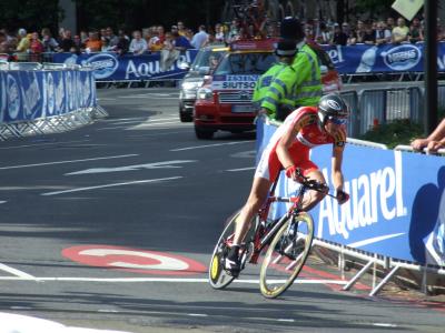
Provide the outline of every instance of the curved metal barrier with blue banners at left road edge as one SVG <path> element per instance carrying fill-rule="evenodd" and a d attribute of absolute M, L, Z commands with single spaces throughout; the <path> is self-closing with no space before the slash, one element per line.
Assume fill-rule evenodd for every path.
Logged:
<path fill-rule="evenodd" d="M 106 115 L 90 68 L 0 62 L 0 141 L 65 132 Z"/>

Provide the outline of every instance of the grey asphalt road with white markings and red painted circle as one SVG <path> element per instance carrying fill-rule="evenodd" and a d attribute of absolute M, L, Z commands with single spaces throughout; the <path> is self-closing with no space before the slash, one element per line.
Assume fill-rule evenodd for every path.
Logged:
<path fill-rule="evenodd" d="M 134 333 L 445 326 L 444 310 L 339 291 L 339 273 L 314 258 L 277 300 L 260 295 L 256 268 L 214 291 L 206 266 L 248 194 L 255 137 L 198 141 L 177 97 L 99 90 L 110 117 L 0 142 L 0 312 Z"/>

